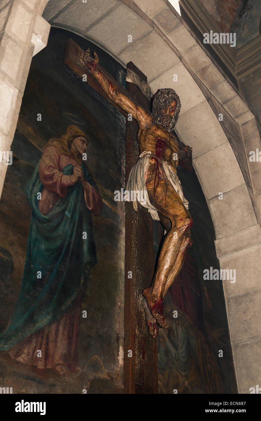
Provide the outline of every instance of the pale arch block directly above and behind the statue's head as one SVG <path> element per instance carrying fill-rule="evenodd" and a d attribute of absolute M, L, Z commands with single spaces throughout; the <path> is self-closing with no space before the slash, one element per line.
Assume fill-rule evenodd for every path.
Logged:
<path fill-rule="evenodd" d="M 176 82 L 173 81 L 173 75 L 177 75 Z M 150 88 L 153 93 L 160 88 L 174 89 L 181 102 L 180 115 L 205 101 L 205 96 L 181 62 L 150 82 Z"/>

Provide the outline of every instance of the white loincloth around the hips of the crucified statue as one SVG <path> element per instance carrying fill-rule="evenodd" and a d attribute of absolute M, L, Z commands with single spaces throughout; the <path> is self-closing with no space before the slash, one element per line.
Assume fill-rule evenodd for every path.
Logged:
<path fill-rule="evenodd" d="M 150 203 L 148 190 L 146 189 L 145 185 L 145 173 L 148 170 L 148 166 L 150 164 L 150 155 L 150 151 L 144 151 L 142 154 L 140 154 L 140 159 L 137 161 L 134 167 L 132 167 L 129 173 L 125 191 L 140 192 L 140 200 L 132 201 L 134 210 L 138 210 L 137 202 L 139 202 L 144 208 L 148 209 L 148 212 L 150 212 L 150 215 L 153 219 L 159 221 L 160 218 L 158 217 L 157 209 L 155 209 L 154 206 Z M 182 187 L 177 174 L 166 161 L 163 161 L 162 165 L 167 179 L 181 198 L 185 208 L 188 209 L 188 201 L 183 196 Z M 127 201 L 130 200 L 127 199 Z"/>

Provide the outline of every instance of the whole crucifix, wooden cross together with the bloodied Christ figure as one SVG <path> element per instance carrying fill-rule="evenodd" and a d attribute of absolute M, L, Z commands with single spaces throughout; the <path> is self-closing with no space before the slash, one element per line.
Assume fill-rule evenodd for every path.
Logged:
<path fill-rule="evenodd" d="M 134 88 L 134 83 L 128 82 L 126 91 L 100 67 L 96 53 L 92 58 L 89 49 L 84 53 L 72 40 L 66 43 L 64 63 L 80 77 L 85 77 L 85 81 L 113 107 L 135 120 L 129 122 L 127 119 L 126 189 L 140 189 L 146 199 L 140 201 L 142 208 L 133 203 L 134 210 L 138 211 L 136 217 L 132 207 L 126 207 L 125 269 L 126 272 L 134 269 L 134 279 L 132 282 L 125 279 L 124 389 L 127 393 L 155 393 L 158 383 L 155 338 L 159 328 L 168 328 L 163 297 L 192 244 L 192 218 L 176 170 L 179 162 L 187 171 L 192 171 L 192 149 L 185 147 L 172 133 L 181 104 L 175 91 L 160 89 L 153 99 L 150 114 L 148 99 L 138 85 Z M 128 63 L 127 69 L 147 82 L 133 63 Z M 149 214 L 161 221 L 166 230 L 153 279 L 152 219 Z M 135 227 L 134 221 L 138 222 Z M 139 242 L 139 239 L 142 240 Z M 145 334 L 142 308 L 150 336 Z M 132 350 L 132 358 L 127 358 L 129 350 Z"/>

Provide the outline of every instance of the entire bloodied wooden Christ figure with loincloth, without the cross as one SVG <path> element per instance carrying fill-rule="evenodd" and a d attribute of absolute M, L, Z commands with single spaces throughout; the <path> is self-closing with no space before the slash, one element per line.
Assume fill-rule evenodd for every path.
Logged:
<path fill-rule="evenodd" d="M 179 149 L 177 138 L 171 133 L 180 111 L 179 96 L 173 89 L 159 89 L 153 99 L 152 115 L 128 96 L 119 92 L 97 68 L 98 56 L 90 49 L 84 53 L 84 63 L 107 96 L 137 121 L 137 142 L 140 159 L 132 168 L 127 191 L 143 191 L 140 204 L 148 209 L 153 219 L 161 221 L 167 234 L 158 259 L 152 284 L 142 291 L 142 306 L 151 336 L 158 334 L 158 325 L 169 328 L 164 312 L 164 295 L 179 274 L 188 248 L 192 245 L 190 227 L 192 218 L 188 202 L 183 196 L 177 177 L 179 160 L 191 156 L 192 148 Z M 133 202 L 137 210 L 137 203 Z"/>

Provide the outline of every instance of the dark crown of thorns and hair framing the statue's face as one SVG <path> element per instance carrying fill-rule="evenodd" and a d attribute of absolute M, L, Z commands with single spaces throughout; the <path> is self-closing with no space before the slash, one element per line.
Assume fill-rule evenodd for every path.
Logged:
<path fill-rule="evenodd" d="M 174 89 L 164 88 L 158 89 L 153 97 L 152 103 L 152 117 L 157 118 L 161 115 L 161 110 L 169 107 L 172 101 L 177 101 L 177 107 L 173 116 L 174 123 L 177 123 L 179 112 L 181 109 L 180 99 Z"/>

